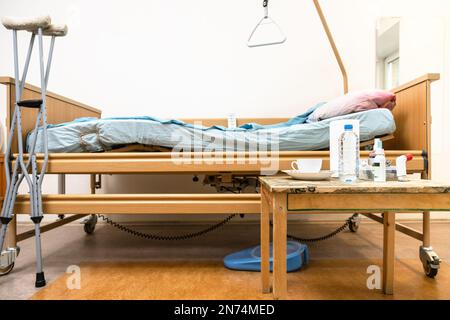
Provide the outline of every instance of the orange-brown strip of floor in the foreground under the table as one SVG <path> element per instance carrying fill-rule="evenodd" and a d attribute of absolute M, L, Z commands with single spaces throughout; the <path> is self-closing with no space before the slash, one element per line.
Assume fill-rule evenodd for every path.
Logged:
<path fill-rule="evenodd" d="M 396 293 L 368 290 L 367 267 L 377 260 L 313 260 L 308 268 L 288 276 L 288 299 L 450 299 L 450 266 L 439 280 L 427 279 L 417 260 L 396 264 Z M 81 289 L 67 289 L 61 276 L 32 299 L 271 299 L 260 293 L 259 274 L 225 270 L 221 263 L 93 263 L 81 266 Z"/>

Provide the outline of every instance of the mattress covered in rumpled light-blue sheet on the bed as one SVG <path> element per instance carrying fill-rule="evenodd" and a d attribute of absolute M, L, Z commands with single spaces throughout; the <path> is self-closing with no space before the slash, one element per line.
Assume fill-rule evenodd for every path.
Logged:
<path fill-rule="evenodd" d="M 246 124 L 236 129 L 203 127 L 177 120 L 152 117 L 82 118 L 48 126 L 51 153 L 104 152 L 126 145 L 159 146 L 174 151 L 314 151 L 329 147 L 329 128 L 334 120 L 360 121 L 360 139 L 368 141 L 395 132 L 395 121 L 387 109 L 376 109 L 306 123 L 299 116 L 282 124 Z M 28 135 L 29 149 L 33 132 Z M 44 151 L 42 128 L 38 130 L 36 151 Z"/>

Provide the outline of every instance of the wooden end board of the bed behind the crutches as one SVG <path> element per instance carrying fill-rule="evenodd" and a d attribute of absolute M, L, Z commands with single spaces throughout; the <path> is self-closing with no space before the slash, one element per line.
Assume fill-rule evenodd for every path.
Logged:
<path fill-rule="evenodd" d="M 9 126 L 14 113 L 16 100 L 16 86 L 13 78 L 0 77 L 0 84 L 6 86 L 6 130 L 9 134 Z M 39 99 L 41 90 L 38 87 L 26 84 L 22 95 L 23 100 Z M 47 92 L 47 122 L 49 124 L 59 124 L 73 121 L 82 117 L 101 118 L 102 112 L 83 103 L 62 97 L 58 94 Z M 34 130 L 36 124 L 37 110 L 22 108 L 22 136 L 25 139 L 28 132 Z M 15 136 L 14 140 L 17 139 Z M 24 140 L 25 142 L 25 140 Z M 13 144 L 13 152 L 17 152 L 17 143 Z"/>

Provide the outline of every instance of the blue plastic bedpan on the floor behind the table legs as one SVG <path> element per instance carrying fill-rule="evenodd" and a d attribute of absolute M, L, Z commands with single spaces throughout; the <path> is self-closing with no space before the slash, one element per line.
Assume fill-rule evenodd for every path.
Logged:
<path fill-rule="evenodd" d="M 273 252 L 270 244 L 270 271 L 273 270 Z M 304 244 L 288 241 L 287 243 L 287 271 L 300 270 L 309 262 L 308 247 Z M 232 253 L 223 259 L 225 267 L 238 271 L 261 271 L 261 247 L 245 249 Z"/>

